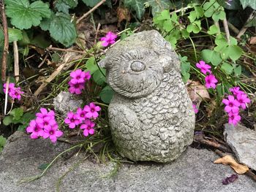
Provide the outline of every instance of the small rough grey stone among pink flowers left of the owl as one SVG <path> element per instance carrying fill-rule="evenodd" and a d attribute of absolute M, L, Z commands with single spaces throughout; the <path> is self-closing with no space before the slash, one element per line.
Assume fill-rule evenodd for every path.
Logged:
<path fill-rule="evenodd" d="M 76 96 L 69 92 L 61 91 L 56 98 L 53 99 L 54 110 L 61 112 L 63 115 L 67 115 L 68 112 L 78 109 L 83 104 L 83 100 L 77 99 Z"/>

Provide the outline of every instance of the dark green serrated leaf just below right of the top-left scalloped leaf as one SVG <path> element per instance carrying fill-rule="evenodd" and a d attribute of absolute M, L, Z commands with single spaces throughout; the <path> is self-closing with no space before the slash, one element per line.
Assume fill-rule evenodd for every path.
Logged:
<path fill-rule="evenodd" d="M 49 20 L 45 20 L 40 26 L 43 30 L 49 30 L 50 37 L 66 47 L 72 45 L 77 37 L 74 21 L 71 20 L 69 15 L 62 12 L 52 15 Z"/>

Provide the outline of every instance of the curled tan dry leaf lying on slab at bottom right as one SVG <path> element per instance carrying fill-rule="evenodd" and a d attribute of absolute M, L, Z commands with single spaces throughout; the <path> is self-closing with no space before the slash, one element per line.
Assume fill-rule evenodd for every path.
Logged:
<path fill-rule="evenodd" d="M 225 155 L 222 158 L 218 158 L 216 161 L 214 161 L 214 164 L 230 165 L 238 174 L 244 174 L 249 170 L 248 166 L 238 164 L 236 160 L 230 155 Z"/>

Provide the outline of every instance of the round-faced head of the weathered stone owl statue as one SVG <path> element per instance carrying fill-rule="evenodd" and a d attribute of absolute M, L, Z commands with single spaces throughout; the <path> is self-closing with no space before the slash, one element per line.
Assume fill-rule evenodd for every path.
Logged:
<path fill-rule="evenodd" d="M 107 80 L 116 93 L 140 98 L 152 93 L 164 74 L 180 72 L 178 55 L 157 31 L 143 31 L 116 43 L 99 66 L 107 69 Z"/>

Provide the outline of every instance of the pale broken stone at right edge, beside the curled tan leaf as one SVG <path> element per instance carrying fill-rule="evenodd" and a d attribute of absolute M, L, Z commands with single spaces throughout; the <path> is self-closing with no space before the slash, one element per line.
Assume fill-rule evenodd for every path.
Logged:
<path fill-rule="evenodd" d="M 256 170 L 256 131 L 226 123 L 224 136 L 238 161 Z"/>

